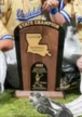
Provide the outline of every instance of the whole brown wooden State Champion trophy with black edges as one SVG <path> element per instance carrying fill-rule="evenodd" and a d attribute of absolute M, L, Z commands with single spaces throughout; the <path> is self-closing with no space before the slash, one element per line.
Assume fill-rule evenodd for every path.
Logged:
<path fill-rule="evenodd" d="M 56 92 L 56 82 L 61 74 L 63 38 L 63 29 L 47 21 L 25 22 L 16 28 L 17 62 L 22 87 L 22 93 L 17 91 L 17 96 L 27 96 L 29 91 L 53 92 L 54 96 L 62 96 L 58 94 L 61 92 Z"/>

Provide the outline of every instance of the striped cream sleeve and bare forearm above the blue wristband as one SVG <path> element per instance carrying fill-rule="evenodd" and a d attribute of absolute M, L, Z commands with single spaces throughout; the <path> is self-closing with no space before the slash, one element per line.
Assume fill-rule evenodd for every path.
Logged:
<path fill-rule="evenodd" d="M 56 9 L 56 8 L 55 8 Z M 65 23 L 71 23 L 72 18 L 72 5 L 70 3 L 66 4 L 65 7 L 57 13 L 50 13 L 50 18 L 52 22 L 55 22 L 59 25 Z"/>

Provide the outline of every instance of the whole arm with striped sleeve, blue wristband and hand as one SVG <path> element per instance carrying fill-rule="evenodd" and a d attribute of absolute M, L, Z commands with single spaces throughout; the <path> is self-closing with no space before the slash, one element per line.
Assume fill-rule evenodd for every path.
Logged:
<path fill-rule="evenodd" d="M 50 14 L 51 21 L 58 25 L 70 23 L 71 22 L 71 12 L 72 12 L 71 4 L 67 3 L 66 6 L 62 10 L 58 11 L 58 6 L 55 5 L 56 4 L 55 1 L 57 1 L 57 0 L 54 0 L 54 6 L 55 6 L 54 8 L 53 8 L 53 4 L 51 3 L 51 1 L 52 0 L 47 0 L 45 7 L 43 7 L 44 10 L 45 9 L 47 10 L 50 7 L 49 14 Z M 48 2 L 50 2 L 50 4 Z"/>

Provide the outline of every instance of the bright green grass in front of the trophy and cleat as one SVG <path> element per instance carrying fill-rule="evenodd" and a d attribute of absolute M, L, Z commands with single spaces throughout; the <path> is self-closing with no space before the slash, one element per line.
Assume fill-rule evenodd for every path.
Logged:
<path fill-rule="evenodd" d="M 69 94 L 65 99 L 55 101 L 66 103 L 77 97 L 78 94 Z M 39 114 L 27 98 L 16 98 L 13 92 L 8 90 L 0 94 L 0 117 L 47 117 L 47 115 Z"/>

